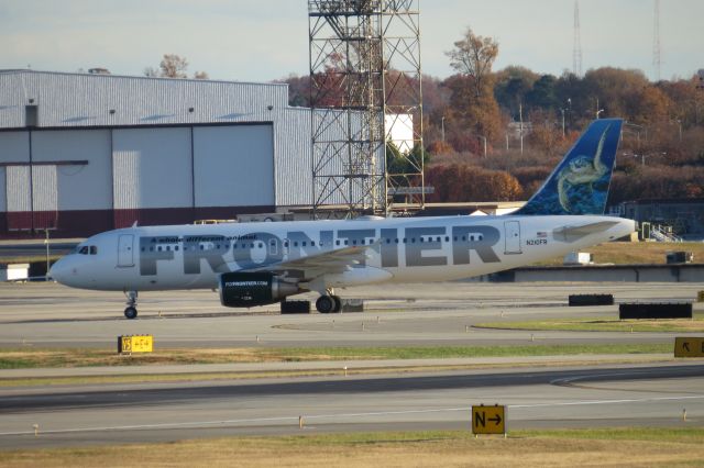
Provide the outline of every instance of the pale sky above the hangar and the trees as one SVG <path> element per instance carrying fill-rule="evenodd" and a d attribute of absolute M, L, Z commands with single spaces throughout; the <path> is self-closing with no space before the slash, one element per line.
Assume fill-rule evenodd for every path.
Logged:
<path fill-rule="evenodd" d="M 581 0 L 583 70 L 653 78 L 654 0 Z M 427 75 L 452 75 L 446 52 L 468 26 L 494 37 L 494 69 L 572 69 L 573 0 L 421 0 Z M 704 0 L 661 0 L 661 77 L 704 68 Z M 212 79 L 271 81 L 308 73 L 307 0 L 0 0 L 0 69 L 142 75 L 165 53 Z"/>

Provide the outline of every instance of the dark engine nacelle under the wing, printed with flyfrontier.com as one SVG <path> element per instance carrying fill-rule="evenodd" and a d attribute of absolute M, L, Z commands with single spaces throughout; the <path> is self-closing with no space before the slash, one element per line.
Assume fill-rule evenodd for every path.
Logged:
<path fill-rule="evenodd" d="M 298 285 L 282 281 L 271 272 L 220 275 L 220 302 L 226 308 L 273 304 L 300 292 Z"/>

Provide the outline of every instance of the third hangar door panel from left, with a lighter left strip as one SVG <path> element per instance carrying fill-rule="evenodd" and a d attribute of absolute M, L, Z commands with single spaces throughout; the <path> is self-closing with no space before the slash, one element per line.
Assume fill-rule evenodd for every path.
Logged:
<path fill-rule="evenodd" d="M 190 129 L 112 132 L 114 208 L 193 205 Z"/>

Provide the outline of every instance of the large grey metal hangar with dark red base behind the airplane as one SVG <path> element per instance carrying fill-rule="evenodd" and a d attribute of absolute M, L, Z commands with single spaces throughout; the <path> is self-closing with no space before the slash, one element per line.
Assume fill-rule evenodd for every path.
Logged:
<path fill-rule="evenodd" d="M 0 70 L 0 238 L 309 205 L 310 124 L 286 83 Z"/>

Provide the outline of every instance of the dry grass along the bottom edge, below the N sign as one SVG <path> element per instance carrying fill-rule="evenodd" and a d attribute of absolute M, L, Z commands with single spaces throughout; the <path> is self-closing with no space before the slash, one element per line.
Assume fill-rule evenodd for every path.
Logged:
<path fill-rule="evenodd" d="M 616 433 L 616 436 L 614 436 Z M 3 467 L 484 467 L 702 466 L 701 430 L 602 434 L 529 432 L 474 439 L 466 432 L 238 437 L 74 449 L 2 453 Z"/>

